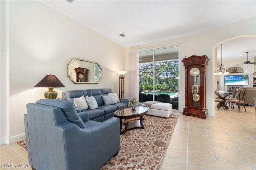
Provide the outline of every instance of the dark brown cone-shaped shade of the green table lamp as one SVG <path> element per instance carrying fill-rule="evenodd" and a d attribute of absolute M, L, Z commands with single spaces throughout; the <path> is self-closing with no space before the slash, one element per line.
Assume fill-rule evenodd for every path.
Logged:
<path fill-rule="evenodd" d="M 34 87 L 65 87 L 55 75 L 46 75 Z"/>

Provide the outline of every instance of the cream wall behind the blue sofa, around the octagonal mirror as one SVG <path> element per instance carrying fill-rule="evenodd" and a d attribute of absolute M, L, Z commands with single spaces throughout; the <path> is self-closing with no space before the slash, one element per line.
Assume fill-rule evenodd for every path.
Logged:
<path fill-rule="evenodd" d="M 39 1 L 1 1 L 1 6 L 5 3 L 7 12 L 1 10 L 1 37 L 4 28 L 10 39 L 1 49 L 1 144 L 24 138 L 26 104 L 44 98 L 48 89 L 34 85 L 47 74 L 56 75 L 66 86 L 55 88 L 58 98 L 62 91 L 75 89 L 112 88 L 118 92 L 116 71 L 125 66 L 124 47 Z M 9 25 L 2 24 L 2 16 L 7 16 Z M 2 56 L 7 47 L 10 51 Z M 74 84 L 68 78 L 67 64 L 74 57 L 100 64 L 103 78 L 99 84 Z M 5 60 L 10 60 L 10 65 Z M 9 72 L 8 67 L 10 76 L 5 81 L 2 74 Z M 6 82 L 10 83 L 10 91 Z M 10 94 L 2 97 L 4 93 Z"/>

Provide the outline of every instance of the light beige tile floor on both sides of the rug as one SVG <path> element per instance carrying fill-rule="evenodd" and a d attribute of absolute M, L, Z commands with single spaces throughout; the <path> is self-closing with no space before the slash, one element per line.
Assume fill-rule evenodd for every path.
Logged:
<path fill-rule="evenodd" d="M 161 170 L 256 170 L 255 108 L 246 111 L 220 108 L 215 117 L 199 119 L 174 110 L 180 118 Z M 26 150 L 16 143 L 1 145 L 0 162 L 1 170 L 31 170 Z"/>

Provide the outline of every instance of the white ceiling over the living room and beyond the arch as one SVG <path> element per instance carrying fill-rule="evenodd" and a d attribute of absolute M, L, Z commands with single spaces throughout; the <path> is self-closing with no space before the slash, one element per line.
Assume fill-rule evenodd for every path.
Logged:
<path fill-rule="evenodd" d="M 66 0 L 46 0 L 41 2 L 124 47 L 188 36 L 256 16 L 255 0 L 74 0 L 71 3 Z M 126 36 L 121 37 L 119 34 Z M 251 54 L 254 50 L 255 56 L 255 38 L 254 43 L 251 42 L 240 45 L 234 42 L 237 48 L 229 50 L 233 53 L 227 56 L 240 55 L 235 49 L 239 49 L 242 53 L 251 51 Z M 222 59 L 225 55 L 224 45 Z M 253 45 L 254 47 L 250 49 L 244 49 Z M 228 47 L 225 47 L 226 49 Z"/>

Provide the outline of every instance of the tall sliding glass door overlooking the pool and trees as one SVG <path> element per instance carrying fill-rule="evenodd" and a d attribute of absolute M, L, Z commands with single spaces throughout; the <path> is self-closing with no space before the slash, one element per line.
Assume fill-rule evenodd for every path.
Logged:
<path fill-rule="evenodd" d="M 178 95 L 178 47 L 140 51 L 140 102 L 170 100 Z"/>

